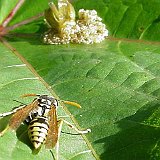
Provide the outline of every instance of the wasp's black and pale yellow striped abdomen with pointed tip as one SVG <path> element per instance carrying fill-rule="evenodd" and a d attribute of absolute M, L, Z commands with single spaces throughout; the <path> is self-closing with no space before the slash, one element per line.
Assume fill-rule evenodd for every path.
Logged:
<path fill-rule="evenodd" d="M 48 119 L 45 117 L 35 117 L 28 126 L 29 139 L 35 149 L 41 147 L 48 134 Z"/>

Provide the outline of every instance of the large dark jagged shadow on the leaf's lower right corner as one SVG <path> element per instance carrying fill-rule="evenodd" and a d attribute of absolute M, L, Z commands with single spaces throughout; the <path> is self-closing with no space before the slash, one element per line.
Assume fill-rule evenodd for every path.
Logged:
<path fill-rule="evenodd" d="M 148 104 L 136 114 L 117 122 L 120 132 L 95 142 L 104 144 L 105 151 L 100 158 L 102 160 L 160 159 L 160 124 L 154 124 L 154 121 L 147 122 L 154 113 L 160 115 L 159 106 L 160 104 Z M 160 116 L 157 117 L 159 118 Z"/>

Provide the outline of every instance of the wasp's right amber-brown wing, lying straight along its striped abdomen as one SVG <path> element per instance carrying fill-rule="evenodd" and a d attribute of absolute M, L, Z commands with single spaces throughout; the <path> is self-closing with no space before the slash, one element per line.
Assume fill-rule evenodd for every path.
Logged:
<path fill-rule="evenodd" d="M 45 146 L 48 149 L 53 148 L 58 140 L 58 122 L 57 122 L 57 112 L 54 106 L 51 106 L 49 111 L 49 129 L 48 135 L 45 142 Z"/>

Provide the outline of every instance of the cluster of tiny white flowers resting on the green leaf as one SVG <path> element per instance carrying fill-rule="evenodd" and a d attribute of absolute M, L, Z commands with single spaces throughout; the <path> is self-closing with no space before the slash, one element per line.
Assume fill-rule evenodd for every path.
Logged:
<path fill-rule="evenodd" d="M 80 9 L 79 19 L 76 21 L 65 21 L 55 34 L 50 28 L 45 32 L 43 41 L 46 44 L 68 44 L 68 43 L 100 43 L 108 36 L 108 30 L 102 19 L 95 10 Z"/>

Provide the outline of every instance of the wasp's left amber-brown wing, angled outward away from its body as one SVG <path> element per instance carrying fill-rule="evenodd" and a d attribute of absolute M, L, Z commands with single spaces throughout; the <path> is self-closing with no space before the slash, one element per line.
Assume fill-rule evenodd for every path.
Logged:
<path fill-rule="evenodd" d="M 31 104 L 17 109 L 16 113 L 12 115 L 9 120 L 9 128 L 16 130 L 20 124 L 27 118 L 29 113 L 38 107 L 38 101 L 34 100 Z"/>

